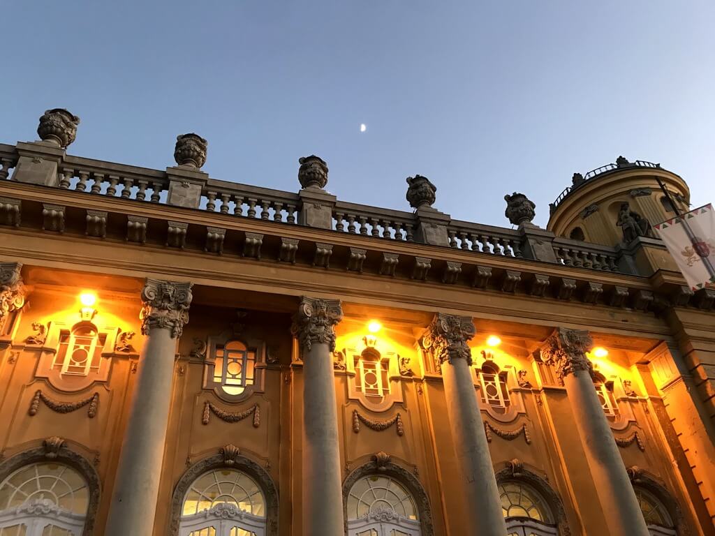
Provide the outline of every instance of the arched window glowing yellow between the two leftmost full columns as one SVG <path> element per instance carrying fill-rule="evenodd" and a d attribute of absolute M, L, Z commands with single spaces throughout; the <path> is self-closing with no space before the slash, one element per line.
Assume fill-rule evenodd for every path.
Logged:
<path fill-rule="evenodd" d="M 266 502 L 245 472 L 220 469 L 197 478 L 184 495 L 179 536 L 265 536 Z"/>

